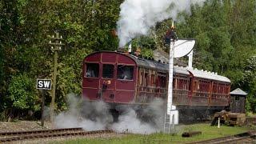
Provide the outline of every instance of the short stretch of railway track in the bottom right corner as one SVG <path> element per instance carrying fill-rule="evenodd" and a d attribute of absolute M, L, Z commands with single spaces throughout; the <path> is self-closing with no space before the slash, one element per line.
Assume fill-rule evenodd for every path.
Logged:
<path fill-rule="evenodd" d="M 232 136 L 222 137 L 222 138 L 214 138 L 206 141 L 200 142 L 192 142 L 190 144 L 217 144 L 217 143 L 256 143 L 256 131 L 248 131 L 242 134 L 235 134 Z"/>

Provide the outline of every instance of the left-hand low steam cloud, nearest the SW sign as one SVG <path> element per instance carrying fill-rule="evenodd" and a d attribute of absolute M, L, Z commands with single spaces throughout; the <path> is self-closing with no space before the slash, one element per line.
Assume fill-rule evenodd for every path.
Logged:
<path fill-rule="evenodd" d="M 58 128 L 82 127 L 84 130 L 105 130 L 112 116 L 104 102 L 90 103 L 86 99 L 76 98 L 75 94 L 67 95 L 69 109 L 54 118 Z"/>

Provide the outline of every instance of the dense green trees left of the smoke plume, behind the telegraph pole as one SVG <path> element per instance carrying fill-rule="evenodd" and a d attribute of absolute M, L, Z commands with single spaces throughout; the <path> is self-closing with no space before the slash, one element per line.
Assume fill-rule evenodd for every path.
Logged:
<path fill-rule="evenodd" d="M 66 94 L 81 92 L 82 59 L 95 50 L 117 49 L 118 38 L 112 32 L 118 20 L 120 3 L 94 0 L 0 1 L 0 112 L 37 110 L 25 102 L 37 102 L 39 94 L 34 94 L 35 83 L 26 87 L 31 90 L 28 100 L 24 90 L 14 91 L 14 86 L 19 86 L 14 85 L 14 80 L 26 75 L 30 75 L 34 82 L 36 78 L 51 78 L 54 58 L 48 43 L 49 36 L 55 31 L 62 35 L 65 43 L 58 53 L 56 90 L 57 110 L 64 109 Z M 21 99 L 16 94 L 22 96 Z M 46 106 L 50 99 L 49 90 Z"/>

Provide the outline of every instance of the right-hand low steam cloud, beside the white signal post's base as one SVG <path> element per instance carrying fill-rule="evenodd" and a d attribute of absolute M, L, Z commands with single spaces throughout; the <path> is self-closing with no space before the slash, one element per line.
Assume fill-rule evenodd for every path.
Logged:
<path fill-rule="evenodd" d="M 133 134 L 152 134 L 162 130 L 163 125 L 163 102 L 155 98 L 149 106 L 128 108 L 119 117 L 119 121 L 111 128 L 118 132 L 129 132 Z M 138 115 L 139 114 L 139 115 Z"/>

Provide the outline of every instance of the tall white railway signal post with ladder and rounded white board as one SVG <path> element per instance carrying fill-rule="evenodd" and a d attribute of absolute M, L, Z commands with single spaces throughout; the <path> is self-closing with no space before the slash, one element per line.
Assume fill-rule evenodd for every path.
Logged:
<path fill-rule="evenodd" d="M 190 59 L 189 67 L 192 68 L 193 47 L 195 40 L 188 38 L 177 38 L 174 31 L 174 22 L 172 22 L 172 26 L 166 34 L 166 43 L 170 44 L 170 59 L 164 132 L 170 132 L 170 129 L 174 130 L 174 125 L 178 124 L 178 110 L 176 110 L 176 106 L 173 105 L 174 58 L 182 58 L 188 55 Z"/>

